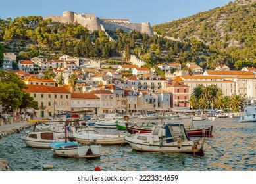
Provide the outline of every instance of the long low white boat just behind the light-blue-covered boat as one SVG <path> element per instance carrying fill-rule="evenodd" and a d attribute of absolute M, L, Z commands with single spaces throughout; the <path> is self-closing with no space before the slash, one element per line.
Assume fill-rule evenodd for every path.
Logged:
<path fill-rule="evenodd" d="M 78 132 L 73 133 L 73 136 L 78 143 L 82 144 L 120 145 L 126 143 L 126 141 L 124 141 L 125 135 L 103 135 L 91 132 Z"/>

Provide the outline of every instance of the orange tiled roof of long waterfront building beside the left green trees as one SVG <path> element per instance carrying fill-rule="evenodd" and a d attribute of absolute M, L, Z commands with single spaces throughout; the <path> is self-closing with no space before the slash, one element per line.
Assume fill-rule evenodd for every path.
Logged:
<path fill-rule="evenodd" d="M 53 87 L 46 85 L 27 85 L 28 89 L 23 91 L 28 93 L 70 93 L 65 87 Z"/>

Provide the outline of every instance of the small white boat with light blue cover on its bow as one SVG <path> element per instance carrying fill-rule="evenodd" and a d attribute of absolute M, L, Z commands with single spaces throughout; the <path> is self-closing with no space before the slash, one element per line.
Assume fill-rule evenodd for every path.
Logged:
<path fill-rule="evenodd" d="M 99 158 L 101 145 L 82 145 L 75 142 L 54 141 L 50 144 L 57 156 L 68 158 Z"/>

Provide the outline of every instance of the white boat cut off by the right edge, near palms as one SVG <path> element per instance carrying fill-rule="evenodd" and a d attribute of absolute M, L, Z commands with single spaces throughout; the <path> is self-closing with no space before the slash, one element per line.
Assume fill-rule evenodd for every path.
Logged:
<path fill-rule="evenodd" d="M 240 122 L 256 122 L 256 106 L 254 104 L 246 104 L 243 116 L 240 117 Z"/>

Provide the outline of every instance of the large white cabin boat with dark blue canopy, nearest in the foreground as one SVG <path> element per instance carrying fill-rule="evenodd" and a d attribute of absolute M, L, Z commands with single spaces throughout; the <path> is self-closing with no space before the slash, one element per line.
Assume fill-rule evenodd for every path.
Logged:
<path fill-rule="evenodd" d="M 183 124 L 156 125 L 151 133 L 127 135 L 124 140 L 143 152 L 186 152 L 203 155 L 205 138 L 192 140 Z"/>

